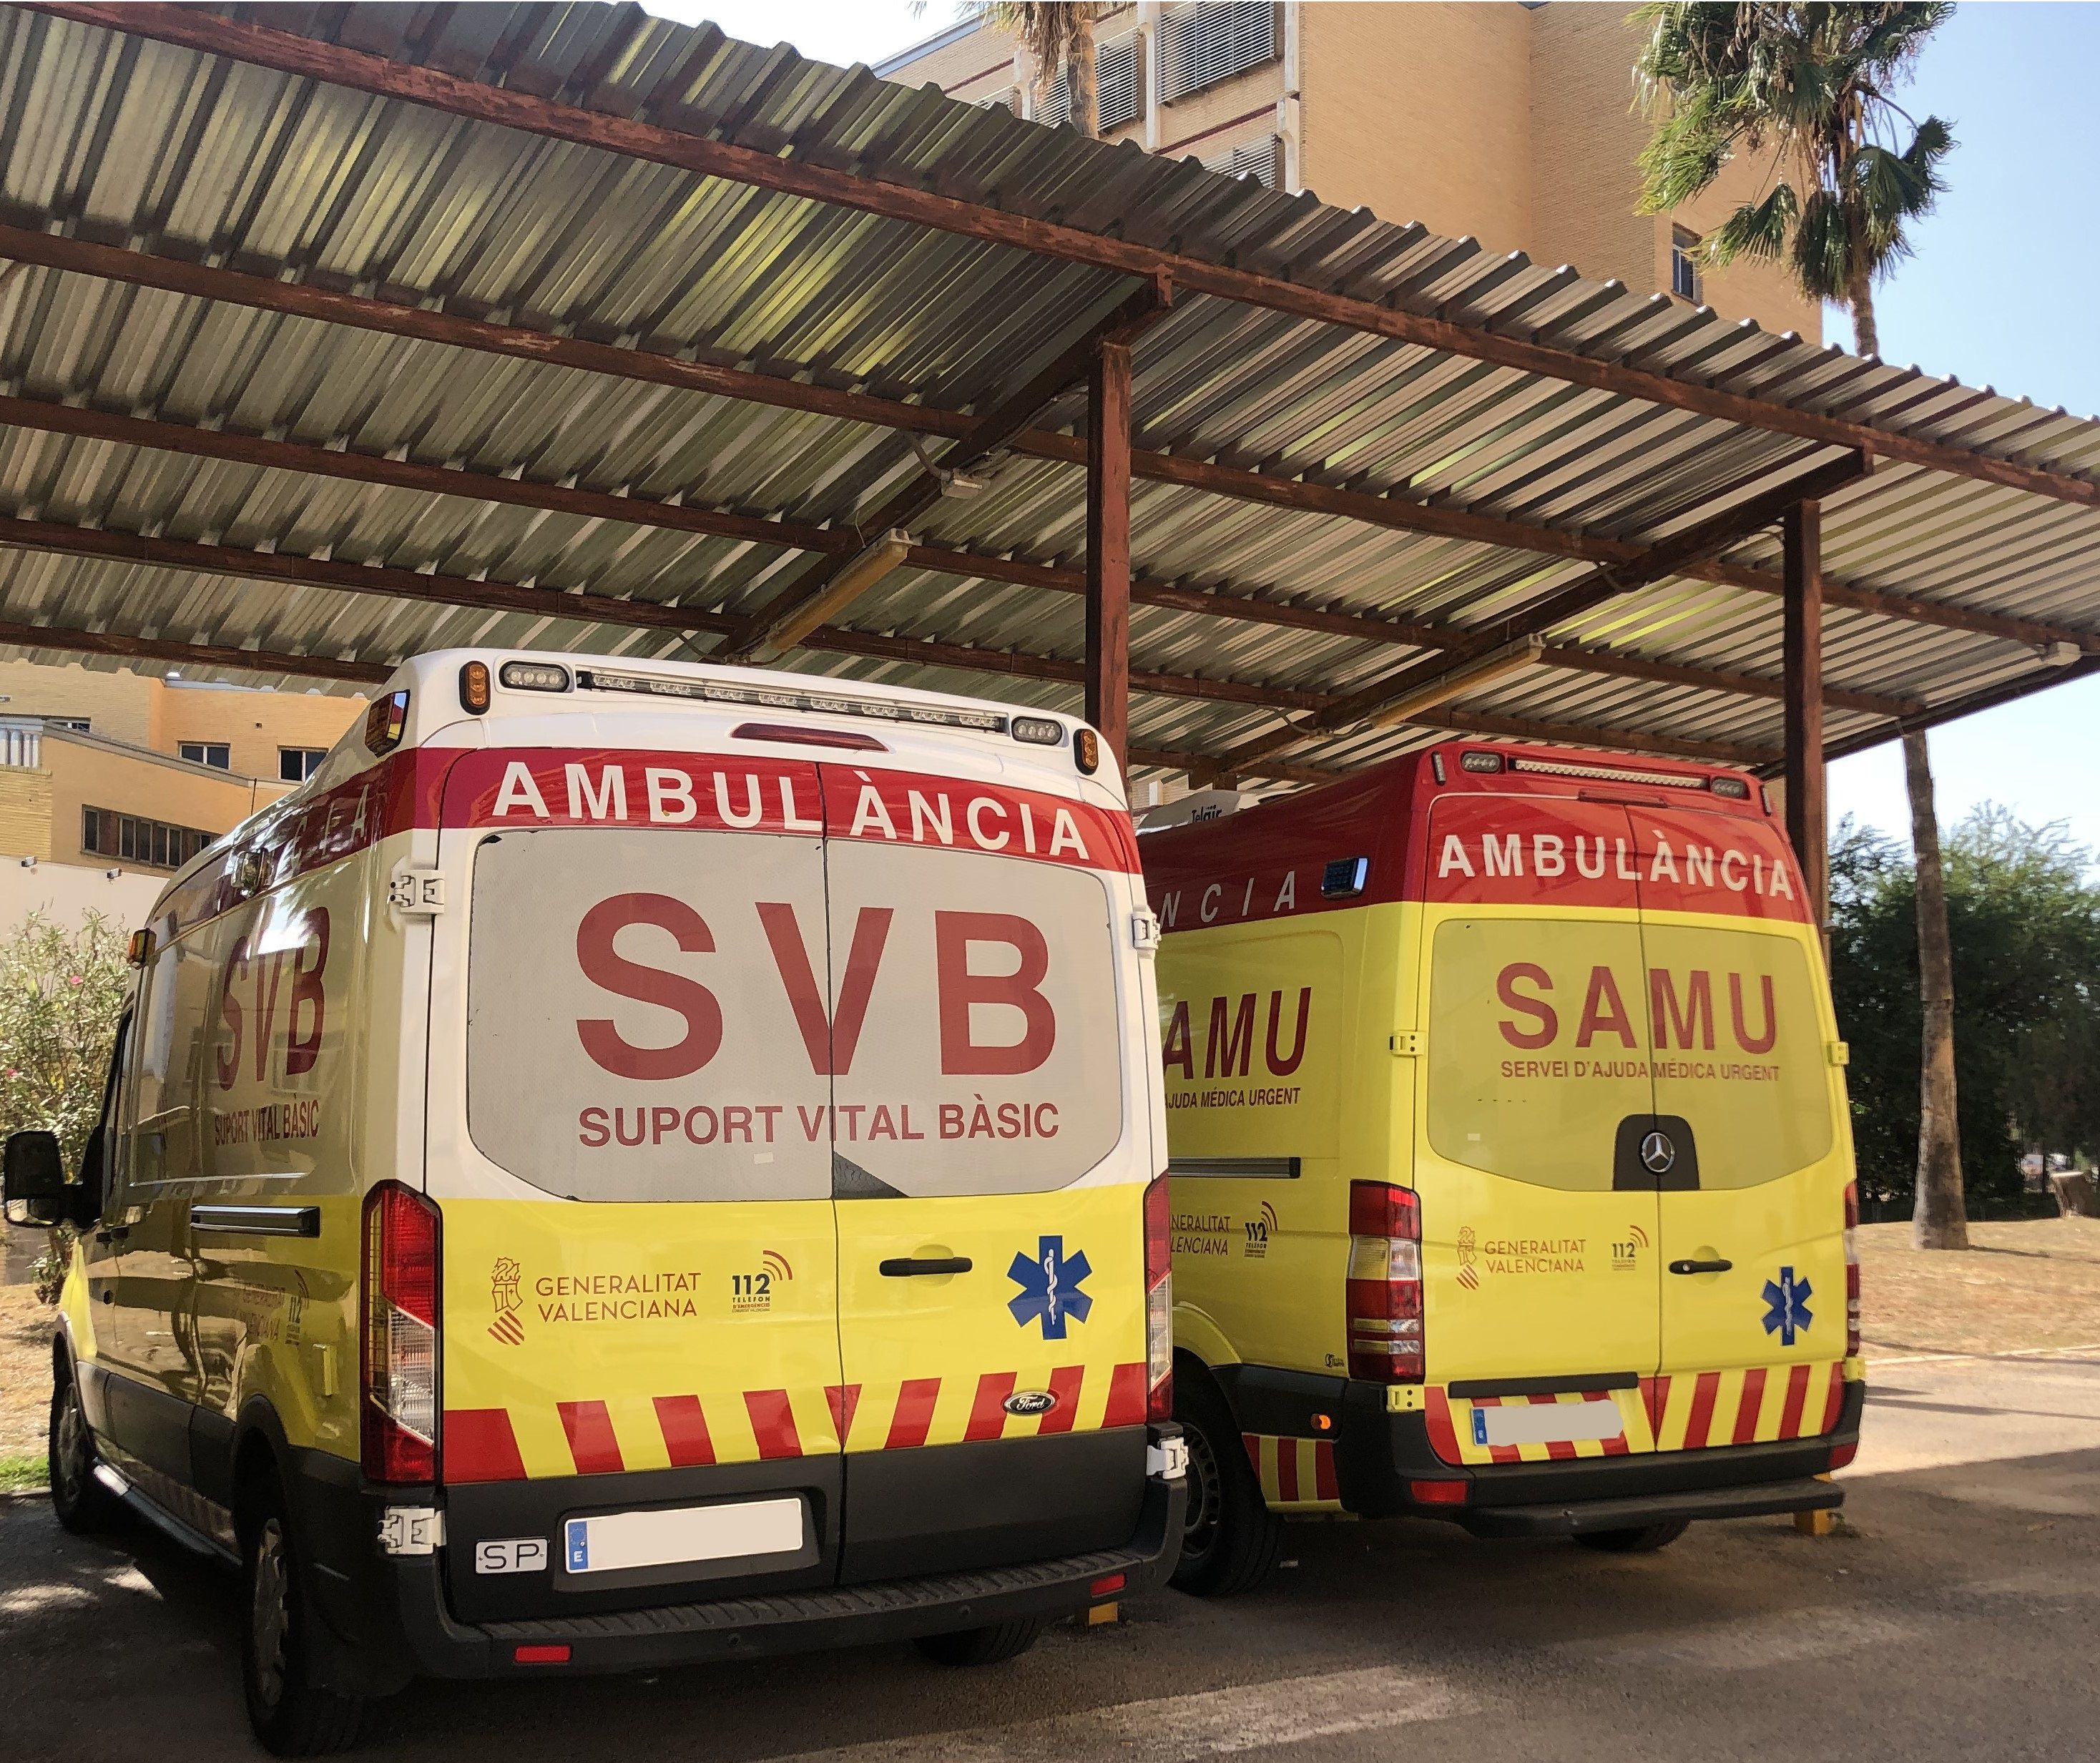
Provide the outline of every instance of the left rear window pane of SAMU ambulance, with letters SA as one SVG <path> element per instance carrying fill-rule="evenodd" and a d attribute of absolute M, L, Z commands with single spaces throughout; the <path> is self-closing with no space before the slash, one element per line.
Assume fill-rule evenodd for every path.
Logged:
<path fill-rule="evenodd" d="M 1541 1188 L 1611 1188 L 1653 1110 L 1638 923 L 1449 919 L 1430 959 L 1430 1148 Z"/>

